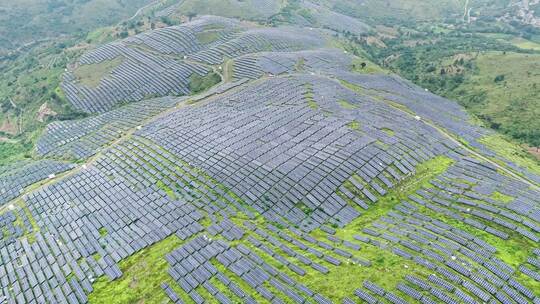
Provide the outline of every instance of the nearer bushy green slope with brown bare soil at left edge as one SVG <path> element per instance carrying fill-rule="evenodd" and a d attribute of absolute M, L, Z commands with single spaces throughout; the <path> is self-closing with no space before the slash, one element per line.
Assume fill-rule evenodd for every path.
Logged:
<path fill-rule="evenodd" d="M 70 42 L 68 42 L 70 43 Z M 37 134 L 52 118 L 78 117 L 59 89 L 66 64 L 79 54 L 65 43 L 48 43 L 0 67 L 0 155 L 29 156 Z"/>

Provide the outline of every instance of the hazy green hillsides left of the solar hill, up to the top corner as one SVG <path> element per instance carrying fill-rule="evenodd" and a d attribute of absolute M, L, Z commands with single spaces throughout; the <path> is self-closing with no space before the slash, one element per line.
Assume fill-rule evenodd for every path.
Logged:
<path fill-rule="evenodd" d="M 65 68 L 83 51 L 167 26 L 148 18 L 117 24 L 119 18 L 132 16 L 138 5 L 150 2 L 147 0 L 130 5 L 120 0 L 57 2 L 60 4 L 55 6 L 55 2 L 46 5 L 37 0 L 0 0 L 0 10 L 5 13 L 0 14 L 0 163 L 30 157 L 37 136 L 50 121 L 83 116 L 71 108 L 60 89 Z M 116 25 L 105 26 L 112 23 Z M 4 38 L 8 44 L 3 43 Z M 27 41 L 37 42 L 13 50 Z M 92 71 L 82 71 L 79 76 L 95 84 Z"/>

